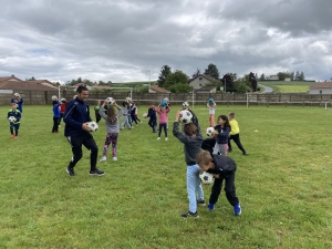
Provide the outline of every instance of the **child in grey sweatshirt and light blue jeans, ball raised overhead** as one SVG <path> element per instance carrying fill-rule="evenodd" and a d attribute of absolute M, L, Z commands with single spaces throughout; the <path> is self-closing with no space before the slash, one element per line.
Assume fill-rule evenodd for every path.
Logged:
<path fill-rule="evenodd" d="M 176 113 L 175 122 L 173 124 L 173 135 L 184 143 L 185 160 L 187 164 L 187 191 L 189 199 L 189 211 L 181 215 L 183 218 L 198 217 L 197 205 L 205 206 L 204 193 L 198 176 L 198 165 L 195 162 L 196 156 L 200 152 L 203 138 L 198 136 L 197 126 L 194 123 L 184 125 L 184 133 L 179 132 L 179 114 Z M 196 194 L 197 191 L 197 198 Z"/>

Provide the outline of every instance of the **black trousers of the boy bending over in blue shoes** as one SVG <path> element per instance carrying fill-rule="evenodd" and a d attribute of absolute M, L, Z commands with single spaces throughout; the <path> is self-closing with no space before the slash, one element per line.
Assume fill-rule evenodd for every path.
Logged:
<path fill-rule="evenodd" d="M 219 178 L 215 178 L 209 203 L 216 204 L 218 201 L 224 180 L 225 180 L 225 193 L 228 203 L 230 203 L 231 206 L 239 204 L 239 199 L 236 195 L 236 187 L 234 184 L 235 172 L 228 174 L 220 174 Z"/>

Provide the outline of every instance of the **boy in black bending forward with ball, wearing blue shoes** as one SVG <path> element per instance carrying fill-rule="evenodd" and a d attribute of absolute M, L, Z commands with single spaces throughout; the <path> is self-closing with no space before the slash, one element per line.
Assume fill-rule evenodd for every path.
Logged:
<path fill-rule="evenodd" d="M 208 172 L 215 175 L 215 183 L 211 188 L 208 209 L 212 211 L 218 201 L 222 180 L 225 179 L 225 193 L 227 200 L 234 207 L 236 216 L 241 215 L 241 206 L 236 195 L 235 173 L 237 170 L 236 163 L 227 156 L 211 155 L 209 152 L 201 151 L 196 157 L 196 163 L 199 165 L 200 170 Z"/>

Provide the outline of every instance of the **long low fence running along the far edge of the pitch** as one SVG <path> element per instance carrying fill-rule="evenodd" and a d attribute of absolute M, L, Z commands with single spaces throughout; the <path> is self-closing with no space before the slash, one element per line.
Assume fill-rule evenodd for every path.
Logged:
<path fill-rule="evenodd" d="M 24 100 L 24 105 L 51 105 L 52 95 L 59 95 L 58 91 L 19 91 Z M 96 100 L 105 100 L 108 96 L 114 97 L 117 102 L 123 102 L 127 93 L 102 93 L 91 91 L 89 102 L 92 104 Z M 62 91 L 61 97 L 72 100 L 73 92 Z M 0 93 L 0 105 L 9 105 L 12 93 Z M 158 94 L 158 93 L 133 93 L 132 100 L 137 104 L 148 105 L 151 102 L 157 104 L 167 97 L 172 104 L 181 104 L 187 101 L 190 105 L 205 104 L 209 97 L 212 97 L 217 104 L 225 105 L 300 105 L 300 106 L 325 106 L 325 103 L 332 104 L 332 94 L 297 94 L 297 93 L 280 93 L 280 94 L 231 94 L 231 93 L 184 93 L 184 94 Z"/>

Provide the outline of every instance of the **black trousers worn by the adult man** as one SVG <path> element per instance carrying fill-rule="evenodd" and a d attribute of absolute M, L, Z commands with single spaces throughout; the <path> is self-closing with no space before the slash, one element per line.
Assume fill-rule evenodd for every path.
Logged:
<path fill-rule="evenodd" d="M 91 170 L 96 169 L 96 160 L 98 155 L 98 147 L 90 133 L 84 133 L 76 136 L 68 136 L 69 143 L 72 146 L 73 157 L 69 164 L 69 167 L 73 168 L 77 162 L 82 158 L 82 145 L 90 151 L 90 167 Z"/>

